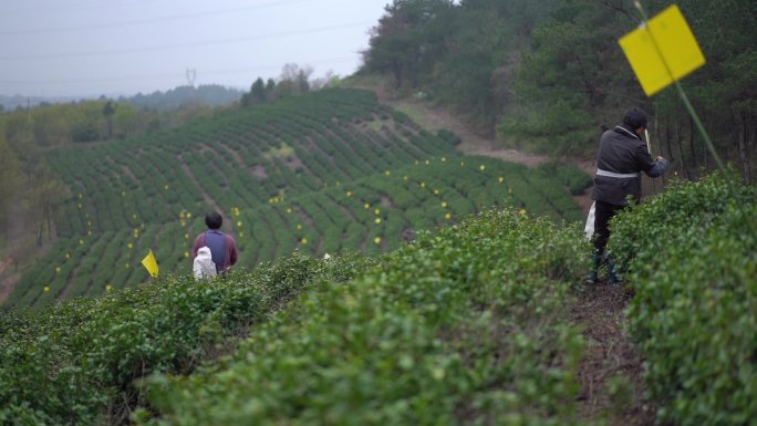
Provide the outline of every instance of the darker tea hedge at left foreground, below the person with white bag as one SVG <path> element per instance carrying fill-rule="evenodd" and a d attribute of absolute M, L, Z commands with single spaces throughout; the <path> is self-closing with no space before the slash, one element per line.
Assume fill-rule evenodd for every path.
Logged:
<path fill-rule="evenodd" d="M 186 274 L 100 299 L 0 316 L 0 423 L 123 423 L 144 404 L 142 377 L 190 373 L 231 351 L 248 328 L 268 321 L 321 280 L 341 282 L 371 266 L 348 254 L 292 256 L 214 281 Z"/>

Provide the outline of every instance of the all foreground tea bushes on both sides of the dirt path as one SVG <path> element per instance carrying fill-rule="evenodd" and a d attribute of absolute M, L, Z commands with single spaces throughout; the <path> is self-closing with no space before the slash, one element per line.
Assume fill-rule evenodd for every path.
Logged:
<path fill-rule="evenodd" d="M 615 221 L 662 424 L 757 418 L 756 201 L 714 176 Z M 11 311 L 0 423 L 604 425 L 580 415 L 592 342 L 570 315 L 590 253 L 579 227 L 500 208 L 374 257 L 294 253 Z M 598 392 L 622 411 L 619 380 Z"/>

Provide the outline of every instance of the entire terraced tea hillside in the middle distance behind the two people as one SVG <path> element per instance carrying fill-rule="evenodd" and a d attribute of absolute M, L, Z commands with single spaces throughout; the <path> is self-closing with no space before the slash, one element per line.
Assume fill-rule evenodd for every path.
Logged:
<path fill-rule="evenodd" d="M 415 231 L 491 206 L 580 219 L 566 189 L 578 169 L 558 178 L 462 157 L 456 142 L 449 132 L 419 128 L 372 92 L 325 90 L 145 138 L 51 150 L 48 162 L 74 196 L 60 211 L 60 239 L 9 304 L 143 282 L 148 250 L 162 273 L 188 269 L 211 209 L 226 217 L 242 268 L 294 250 L 391 250 Z"/>

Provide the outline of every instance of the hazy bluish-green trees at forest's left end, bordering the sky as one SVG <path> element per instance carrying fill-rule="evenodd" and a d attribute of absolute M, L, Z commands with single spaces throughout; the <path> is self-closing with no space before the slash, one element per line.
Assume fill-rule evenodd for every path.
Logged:
<path fill-rule="evenodd" d="M 492 126 L 506 107 L 516 52 L 551 3 L 394 1 L 372 31 L 361 73 L 391 74 L 401 93 L 423 92 Z"/>

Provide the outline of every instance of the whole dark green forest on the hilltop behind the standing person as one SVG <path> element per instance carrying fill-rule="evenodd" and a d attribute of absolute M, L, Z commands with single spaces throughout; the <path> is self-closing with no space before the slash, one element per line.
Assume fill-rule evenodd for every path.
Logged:
<path fill-rule="evenodd" d="M 707 59 L 683 81 L 722 157 L 754 180 L 757 54 L 750 0 L 677 2 Z M 650 15 L 670 6 L 644 2 Z M 673 89 L 647 100 L 618 40 L 639 25 L 628 0 L 396 0 L 372 33 L 361 73 L 394 76 L 521 149 L 581 155 L 602 126 L 641 106 L 654 152 L 686 176 L 714 162 Z M 727 35 L 726 31 L 727 29 Z M 659 144 L 659 145 L 657 145 Z"/>

